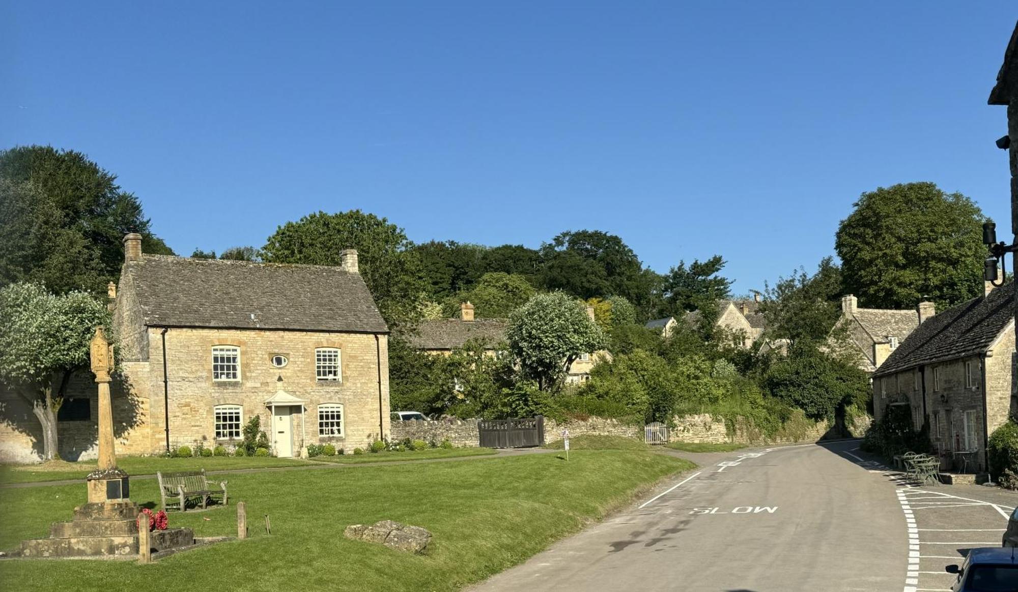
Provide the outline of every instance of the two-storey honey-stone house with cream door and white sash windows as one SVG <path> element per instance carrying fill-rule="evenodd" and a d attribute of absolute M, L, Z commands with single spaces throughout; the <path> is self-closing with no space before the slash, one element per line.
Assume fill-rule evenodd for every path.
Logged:
<path fill-rule="evenodd" d="M 110 290 L 117 452 L 232 448 L 256 416 L 280 457 L 387 436 L 388 329 L 356 251 L 341 257 L 340 267 L 320 267 L 151 255 L 139 235 L 127 235 Z M 96 454 L 96 388 L 82 374 L 58 428 L 70 460 Z M 39 429 L 14 403 L 4 399 L 0 453 L 38 459 Z"/>

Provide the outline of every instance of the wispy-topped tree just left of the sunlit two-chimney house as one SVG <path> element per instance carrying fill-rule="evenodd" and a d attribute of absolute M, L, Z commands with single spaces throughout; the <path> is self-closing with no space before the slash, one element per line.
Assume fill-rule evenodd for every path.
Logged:
<path fill-rule="evenodd" d="M 824 257 L 812 276 L 799 270 L 767 287 L 760 312 L 769 339 L 822 342 L 840 316 L 841 269 Z"/>

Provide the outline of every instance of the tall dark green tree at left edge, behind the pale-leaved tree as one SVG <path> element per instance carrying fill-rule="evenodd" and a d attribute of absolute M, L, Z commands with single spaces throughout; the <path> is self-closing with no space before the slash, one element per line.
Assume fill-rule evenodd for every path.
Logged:
<path fill-rule="evenodd" d="M 0 283 L 103 290 L 120 274 L 129 232 L 142 234 L 146 252 L 173 253 L 153 235 L 138 198 L 81 153 L 0 151 Z"/>

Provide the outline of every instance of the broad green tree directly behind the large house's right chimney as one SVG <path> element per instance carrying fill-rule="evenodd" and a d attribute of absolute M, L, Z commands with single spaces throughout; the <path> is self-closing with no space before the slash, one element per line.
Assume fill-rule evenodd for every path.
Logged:
<path fill-rule="evenodd" d="M 266 261 L 338 265 L 340 253 L 354 248 L 364 279 L 390 329 L 420 316 L 425 284 L 406 233 L 385 218 L 359 210 L 318 212 L 287 222 L 262 249 Z"/>

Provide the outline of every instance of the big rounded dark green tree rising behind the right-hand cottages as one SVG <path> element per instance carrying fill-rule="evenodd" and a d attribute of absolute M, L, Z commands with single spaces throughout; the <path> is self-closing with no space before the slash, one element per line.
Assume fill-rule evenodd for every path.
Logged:
<path fill-rule="evenodd" d="M 904 183 L 863 193 L 854 206 L 835 249 L 845 290 L 860 305 L 952 305 L 981 293 L 986 218 L 971 199 L 934 183 Z"/>

